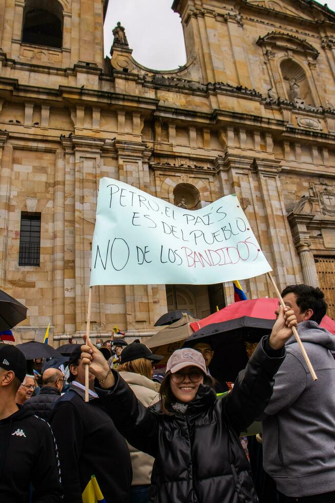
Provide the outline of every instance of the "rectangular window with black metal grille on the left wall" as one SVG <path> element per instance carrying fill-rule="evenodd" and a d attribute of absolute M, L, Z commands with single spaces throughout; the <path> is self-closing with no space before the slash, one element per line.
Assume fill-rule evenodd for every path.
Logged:
<path fill-rule="evenodd" d="M 18 265 L 39 266 L 40 213 L 21 212 Z"/>

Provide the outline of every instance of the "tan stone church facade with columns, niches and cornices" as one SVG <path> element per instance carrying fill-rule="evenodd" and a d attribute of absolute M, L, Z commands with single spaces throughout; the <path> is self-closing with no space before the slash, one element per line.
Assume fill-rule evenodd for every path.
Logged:
<path fill-rule="evenodd" d="M 312 0 L 175 0 L 187 62 L 154 71 L 108 0 L 0 0 L 1 288 L 17 340 L 86 330 L 99 179 L 196 209 L 236 193 L 280 287 L 324 288 L 335 316 L 335 14 Z M 111 27 L 112 28 L 112 27 Z M 150 278 L 148 278 L 150 282 Z M 274 295 L 265 276 L 249 298 Z M 203 317 L 231 284 L 94 287 L 91 331 L 149 336 Z"/>

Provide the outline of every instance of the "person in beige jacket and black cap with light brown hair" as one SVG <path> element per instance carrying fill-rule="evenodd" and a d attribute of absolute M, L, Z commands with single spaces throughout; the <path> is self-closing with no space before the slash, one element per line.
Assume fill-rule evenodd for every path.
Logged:
<path fill-rule="evenodd" d="M 154 355 L 149 347 L 133 342 L 120 356 L 118 373 L 144 405 L 150 407 L 159 401 L 160 384 L 152 380 L 153 364 L 163 356 Z M 148 503 L 150 477 L 154 458 L 128 445 L 133 467 L 131 503 Z"/>

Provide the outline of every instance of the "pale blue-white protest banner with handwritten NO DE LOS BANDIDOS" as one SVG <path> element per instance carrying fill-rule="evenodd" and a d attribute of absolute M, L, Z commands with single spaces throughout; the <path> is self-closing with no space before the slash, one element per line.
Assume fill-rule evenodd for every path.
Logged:
<path fill-rule="evenodd" d="M 235 195 L 191 211 L 100 180 L 91 286 L 207 285 L 270 270 Z"/>

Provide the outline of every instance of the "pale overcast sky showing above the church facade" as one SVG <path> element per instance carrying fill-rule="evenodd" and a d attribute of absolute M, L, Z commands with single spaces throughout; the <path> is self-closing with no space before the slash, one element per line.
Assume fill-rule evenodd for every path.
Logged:
<path fill-rule="evenodd" d="M 335 11 L 335 0 L 326 0 Z M 112 29 L 125 27 L 133 56 L 141 65 L 171 70 L 186 62 L 180 17 L 171 9 L 173 0 L 110 0 L 104 23 L 104 50 L 109 54 Z M 319 2 L 324 4 L 325 2 Z"/>

